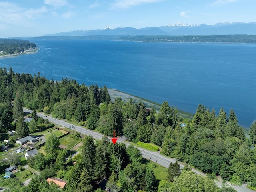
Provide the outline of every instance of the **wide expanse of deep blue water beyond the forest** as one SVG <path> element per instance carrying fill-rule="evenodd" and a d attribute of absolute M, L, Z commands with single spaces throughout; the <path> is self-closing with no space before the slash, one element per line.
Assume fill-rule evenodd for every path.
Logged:
<path fill-rule="evenodd" d="M 256 119 L 256 44 L 38 40 L 38 54 L 0 60 L 0 67 L 87 86 L 98 84 L 194 113 L 199 103 L 240 125 Z"/>

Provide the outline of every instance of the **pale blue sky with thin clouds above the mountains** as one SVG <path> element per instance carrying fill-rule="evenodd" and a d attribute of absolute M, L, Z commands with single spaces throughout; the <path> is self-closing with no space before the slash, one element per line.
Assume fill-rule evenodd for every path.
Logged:
<path fill-rule="evenodd" d="M 255 0 L 0 0 L 0 38 L 167 24 L 256 22 Z"/>

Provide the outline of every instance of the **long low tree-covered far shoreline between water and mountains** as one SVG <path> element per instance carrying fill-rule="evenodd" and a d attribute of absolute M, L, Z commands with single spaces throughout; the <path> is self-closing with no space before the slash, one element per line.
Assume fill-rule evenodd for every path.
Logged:
<path fill-rule="evenodd" d="M 193 43 L 256 43 L 256 35 L 207 35 L 207 36 L 43 36 L 28 40 L 120 40 L 139 42 L 193 42 Z"/>

